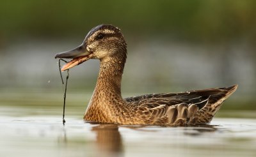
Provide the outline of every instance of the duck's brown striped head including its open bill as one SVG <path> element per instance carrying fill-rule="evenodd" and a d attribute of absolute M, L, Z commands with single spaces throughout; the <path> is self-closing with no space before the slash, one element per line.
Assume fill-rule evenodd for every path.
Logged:
<path fill-rule="evenodd" d="M 89 59 L 111 61 L 116 58 L 126 58 L 126 43 L 118 27 L 102 24 L 94 27 L 85 37 L 79 47 L 60 52 L 55 58 L 72 59 L 65 64 L 61 71 L 68 70 Z"/>

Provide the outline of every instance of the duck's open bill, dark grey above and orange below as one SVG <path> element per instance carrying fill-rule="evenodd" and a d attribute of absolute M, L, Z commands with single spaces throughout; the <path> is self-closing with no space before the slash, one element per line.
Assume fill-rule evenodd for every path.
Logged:
<path fill-rule="evenodd" d="M 61 71 L 68 70 L 74 66 L 77 66 L 88 59 L 91 59 L 93 54 L 84 49 L 83 46 L 79 46 L 76 49 L 69 50 L 66 52 L 60 52 L 56 54 L 55 58 L 70 58 L 72 59 L 68 63 L 64 64 L 61 68 Z"/>

